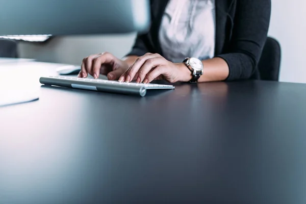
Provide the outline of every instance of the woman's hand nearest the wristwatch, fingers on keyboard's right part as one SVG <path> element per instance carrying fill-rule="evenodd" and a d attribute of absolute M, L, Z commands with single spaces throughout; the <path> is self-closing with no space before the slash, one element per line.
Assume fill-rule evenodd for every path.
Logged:
<path fill-rule="evenodd" d="M 188 81 L 191 72 L 183 63 L 172 63 L 159 54 L 147 53 L 136 59 L 134 64 L 119 78 L 119 82 L 150 83 L 156 79 L 164 79 L 170 83 Z"/>

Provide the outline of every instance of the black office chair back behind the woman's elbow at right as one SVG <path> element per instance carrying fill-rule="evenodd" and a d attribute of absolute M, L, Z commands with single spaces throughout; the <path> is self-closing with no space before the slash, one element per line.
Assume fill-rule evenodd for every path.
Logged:
<path fill-rule="evenodd" d="M 258 63 L 261 80 L 278 81 L 281 66 L 281 45 L 268 37 Z"/>

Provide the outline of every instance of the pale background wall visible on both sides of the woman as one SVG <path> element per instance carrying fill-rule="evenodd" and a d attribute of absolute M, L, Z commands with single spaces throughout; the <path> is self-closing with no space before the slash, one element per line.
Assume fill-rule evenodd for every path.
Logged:
<path fill-rule="evenodd" d="M 306 1 L 272 1 L 269 35 L 282 46 L 280 81 L 306 83 Z M 20 55 L 39 61 L 80 64 L 84 57 L 105 51 L 122 57 L 130 50 L 134 37 L 135 34 L 59 37 L 44 46 L 21 43 Z"/>

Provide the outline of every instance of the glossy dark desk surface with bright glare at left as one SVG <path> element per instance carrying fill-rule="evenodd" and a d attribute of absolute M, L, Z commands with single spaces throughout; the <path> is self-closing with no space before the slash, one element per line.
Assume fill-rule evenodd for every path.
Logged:
<path fill-rule="evenodd" d="M 0 203 L 306 202 L 304 84 L 40 91 L 0 108 Z"/>

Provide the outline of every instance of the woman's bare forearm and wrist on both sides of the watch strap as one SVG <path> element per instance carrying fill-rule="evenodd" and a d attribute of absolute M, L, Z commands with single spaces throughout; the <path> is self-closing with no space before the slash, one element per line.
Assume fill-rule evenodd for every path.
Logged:
<path fill-rule="evenodd" d="M 227 63 L 222 58 L 213 58 L 203 60 L 203 75 L 198 79 L 200 82 L 224 81 L 230 73 Z M 189 82 L 192 79 L 191 71 L 188 70 L 185 63 L 176 64 L 182 72 L 180 81 Z"/>

